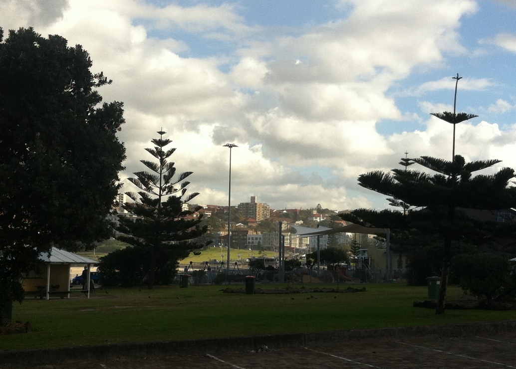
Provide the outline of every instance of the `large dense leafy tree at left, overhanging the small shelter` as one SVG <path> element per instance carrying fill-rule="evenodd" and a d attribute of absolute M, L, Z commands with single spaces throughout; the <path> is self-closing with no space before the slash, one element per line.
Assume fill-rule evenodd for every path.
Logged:
<path fill-rule="evenodd" d="M 90 72 L 80 45 L 32 28 L 0 29 L 0 306 L 23 299 L 20 276 L 53 245 L 76 250 L 110 234 L 106 215 L 125 158 L 122 103 Z M 4 315 L 0 309 L 0 323 Z"/>

